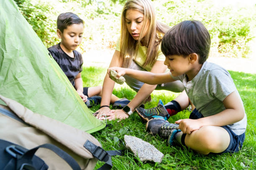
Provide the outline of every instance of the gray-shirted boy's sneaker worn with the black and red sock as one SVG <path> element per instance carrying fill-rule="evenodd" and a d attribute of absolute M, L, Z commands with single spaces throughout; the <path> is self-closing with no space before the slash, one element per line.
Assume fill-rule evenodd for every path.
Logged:
<path fill-rule="evenodd" d="M 156 107 L 153 107 L 150 109 L 144 109 L 142 107 L 138 107 L 136 108 L 136 111 L 144 122 L 147 122 L 148 120 L 151 120 L 154 118 L 159 118 L 164 120 L 167 120 L 169 118 L 169 113 L 165 109 L 162 100 L 159 100 L 158 105 Z"/>

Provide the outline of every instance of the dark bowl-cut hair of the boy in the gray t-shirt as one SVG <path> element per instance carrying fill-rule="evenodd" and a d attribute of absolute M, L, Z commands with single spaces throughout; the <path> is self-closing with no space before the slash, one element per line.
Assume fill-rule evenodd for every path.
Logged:
<path fill-rule="evenodd" d="M 199 55 L 203 64 L 210 52 L 211 39 L 205 26 L 196 20 L 183 21 L 171 28 L 162 39 L 161 50 L 167 55 Z"/>

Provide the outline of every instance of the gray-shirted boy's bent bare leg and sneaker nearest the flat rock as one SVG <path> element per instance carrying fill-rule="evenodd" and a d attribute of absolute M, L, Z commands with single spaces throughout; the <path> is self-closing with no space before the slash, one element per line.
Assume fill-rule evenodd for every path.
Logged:
<path fill-rule="evenodd" d="M 222 153 L 230 144 L 228 131 L 218 126 L 204 126 L 191 134 L 183 134 L 177 124 L 164 119 L 151 119 L 146 124 L 146 130 L 167 139 L 170 145 L 174 140 L 204 155 Z"/>

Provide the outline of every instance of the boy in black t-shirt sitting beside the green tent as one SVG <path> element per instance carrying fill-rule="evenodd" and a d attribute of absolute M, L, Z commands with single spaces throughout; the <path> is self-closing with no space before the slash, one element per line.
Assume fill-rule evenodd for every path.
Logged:
<path fill-rule="evenodd" d="M 49 47 L 54 60 L 59 64 L 61 70 L 67 75 L 77 93 L 88 107 L 99 104 L 102 95 L 102 86 L 83 87 L 81 77 L 83 58 L 76 51 L 82 42 L 84 32 L 84 21 L 74 13 L 62 13 L 57 18 L 57 35 L 61 42 Z M 115 95 L 111 96 L 110 102 L 119 100 Z"/>

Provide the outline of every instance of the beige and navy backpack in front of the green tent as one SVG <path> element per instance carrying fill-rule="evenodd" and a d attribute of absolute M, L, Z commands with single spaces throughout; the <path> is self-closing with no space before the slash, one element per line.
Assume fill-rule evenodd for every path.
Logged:
<path fill-rule="evenodd" d="M 0 158 L 3 157 L 2 155 L 9 154 L 6 151 L 7 147 L 21 148 L 23 154 L 33 148 L 29 152 L 33 154 L 36 152 L 36 156 L 30 154 L 29 158 L 39 161 L 42 164 L 41 167 L 46 167 L 46 169 L 49 166 L 49 170 L 71 170 L 77 167 L 71 168 L 71 165 L 77 163 L 82 170 L 92 170 L 98 160 L 106 162 L 100 169 L 111 169 L 111 155 L 121 154 L 118 151 L 113 153 L 103 150 L 99 141 L 89 133 L 34 113 L 20 103 L 2 95 L 0 95 L 0 100 L 6 104 L 0 104 L 0 148 L 2 148 L 0 149 Z M 59 152 L 52 151 L 54 150 L 52 148 L 57 148 L 56 150 L 59 150 L 61 154 L 67 154 L 62 157 L 66 158 L 70 155 L 71 158 L 62 159 L 58 156 Z M 13 157 L 11 154 L 9 155 L 10 158 Z M 20 158 L 20 155 L 17 157 Z M 33 167 L 31 160 L 25 164 L 30 164 L 29 166 Z M 19 166 L 16 169 L 22 168 L 20 161 L 18 159 L 15 161 L 15 164 Z M 3 164 L 4 162 L 1 160 L 0 169 L 4 167 Z M 33 170 L 33 168 L 27 169 Z"/>

